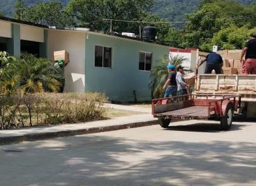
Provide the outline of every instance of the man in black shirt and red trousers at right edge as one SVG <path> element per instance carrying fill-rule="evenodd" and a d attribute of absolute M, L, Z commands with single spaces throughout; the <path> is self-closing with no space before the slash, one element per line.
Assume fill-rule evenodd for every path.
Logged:
<path fill-rule="evenodd" d="M 250 40 L 241 54 L 241 62 L 246 54 L 246 62 L 243 65 L 243 74 L 256 74 L 256 34 L 250 34 Z"/>

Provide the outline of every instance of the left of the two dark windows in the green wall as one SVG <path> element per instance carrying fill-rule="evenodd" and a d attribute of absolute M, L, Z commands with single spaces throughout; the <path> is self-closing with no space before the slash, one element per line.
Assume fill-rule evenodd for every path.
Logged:
<path fill-rule="evenodd" d="M 95 46 L 95 67 L 111 68 L 111 48 Z"/>

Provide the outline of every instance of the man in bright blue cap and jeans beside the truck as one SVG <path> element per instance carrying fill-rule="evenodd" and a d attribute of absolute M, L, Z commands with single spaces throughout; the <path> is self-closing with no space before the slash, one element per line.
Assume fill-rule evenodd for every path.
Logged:
<path fill-rule="evenodd" d="M 163 86 L 163 89 L 165 90 L 165 98 L 168 98 L 170 94 L 172 96 L 177 96 L 177 83 L 176 83 L 176 72 L 175 72 L 175 66 L 172 64 L 167 65 L 168 69 L 168 79 Z"/>

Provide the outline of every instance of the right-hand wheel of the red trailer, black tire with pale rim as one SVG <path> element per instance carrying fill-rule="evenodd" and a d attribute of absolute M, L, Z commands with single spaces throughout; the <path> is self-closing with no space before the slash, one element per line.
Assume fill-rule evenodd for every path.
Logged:
<path fill-rule="evenodd" d="M 221 130 L 230 130 L 230 127 L 232 126 L 233 115 L 234 108 L 233 105 L 229 103 L 226 107 L 225 115 L 221 117 Z"/>

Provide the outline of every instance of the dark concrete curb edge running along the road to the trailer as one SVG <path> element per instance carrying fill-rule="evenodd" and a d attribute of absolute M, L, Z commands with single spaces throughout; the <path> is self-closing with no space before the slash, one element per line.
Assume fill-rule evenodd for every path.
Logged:
<path fill-rule="evenodd" d="M 48 138 L 59 138 L 59 137 L 66 137 L 66 136 L 76 136 L 82 134 L 93 134 L 99 132 L 109 132 L 115 130 L 124 130 L 129 128 L 135 127 L 145 127 L 150 125 L 156 125 L 158 121 L 143 121 L 143 122 L 136 122 L 136 123 L 127 123 L 122 125 L 113 125 L 113 126 L 106 126 L 106 127 L 91 127 L 91 128 L 84 128 L 80 130 L 65 130 L 60 132 L 45 132 L 40 134 L 25 134 L 22 136 L 6 136 L 0 138 L 0 145 L 9 145 L 12 143 L 21 143 L 24 141 L 38 141 L 44 140 Z"/>

